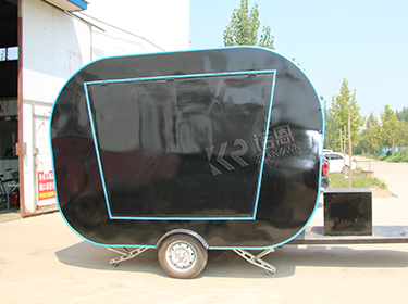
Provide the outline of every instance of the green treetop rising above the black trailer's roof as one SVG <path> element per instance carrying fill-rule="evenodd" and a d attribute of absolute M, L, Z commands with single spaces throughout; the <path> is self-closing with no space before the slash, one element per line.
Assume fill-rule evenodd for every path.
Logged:
<path fill-rule="evenodd" d="M 259 25 L 258 4 L 255 3 L 249 12 L 248 0 L 242 0 L 239 8 L 234 10 L 231 22 L 224 29 L 224 46 L 259 46 L 274 50 L 274 38 L 268 25 L 263 26 L 258 40 Z"/>

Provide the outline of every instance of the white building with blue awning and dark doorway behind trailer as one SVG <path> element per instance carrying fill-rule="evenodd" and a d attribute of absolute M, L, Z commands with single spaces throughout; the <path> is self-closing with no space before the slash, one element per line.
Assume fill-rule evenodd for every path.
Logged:
<path fill-rule="evenodd" d="M 57 203 L 49 117 L 65 81 L 101 58 L 188 49 L 189 1 L 0 0 L 0 174 L 18 172 L 26 216 Z"/>

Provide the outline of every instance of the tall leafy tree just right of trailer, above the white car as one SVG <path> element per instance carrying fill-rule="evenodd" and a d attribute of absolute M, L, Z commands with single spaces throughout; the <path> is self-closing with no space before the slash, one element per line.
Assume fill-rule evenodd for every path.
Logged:
<path fill-rule="evenodd" d="M 358 130 L 363 126 L 366 117 L 360 116 L 360 106 L 357 104 L 356 90 L 354 90 L 351 93 L 346 78 L 343 79 L 339 94 L 332 98 L 332 107 L 330 111 L 330 118 L 334 119 L 334 125 L 342 130 L 345 126 L 347 126 L 348 113 L 350 113 L 351 141 L 354 142 L 357 140 Z M 336 139 L 336 147 L 339 147 L 339 137 Z"/>

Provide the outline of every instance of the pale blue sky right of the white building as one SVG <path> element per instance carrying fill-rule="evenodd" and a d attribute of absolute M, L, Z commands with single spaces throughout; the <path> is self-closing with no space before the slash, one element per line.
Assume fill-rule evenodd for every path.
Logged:
<path fill-rule="evenodd" d="M 331 105 L 343 79 L 356 90 L 360 115 L 408 107 L 408 1 L 249 0 L 275 50 L 305 69 Z M 240 0 L 190 0 L 190 49 L 223 46 Z"/>

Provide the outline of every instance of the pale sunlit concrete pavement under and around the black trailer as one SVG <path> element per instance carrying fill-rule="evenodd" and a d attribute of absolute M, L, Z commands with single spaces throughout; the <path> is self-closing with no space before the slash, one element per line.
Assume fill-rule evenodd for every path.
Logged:
<path fill-rule="evenodd" d="M 375 199 L 374 224 L 407 223 L 399 198 Z M 312 225 L 321 225 L 319 207 Z M 408 224 L 408 223 L 407 223 Z M 407 225 L 408 226 L 408 225 Z M 76 236 L 59 213 L 0 223 L 0 303 L 406 303 L 408 244 L 287 245 L 273 276 L 210 251 L 196 279 L 169 278 L 154 250 L 120 264 Z"/>

